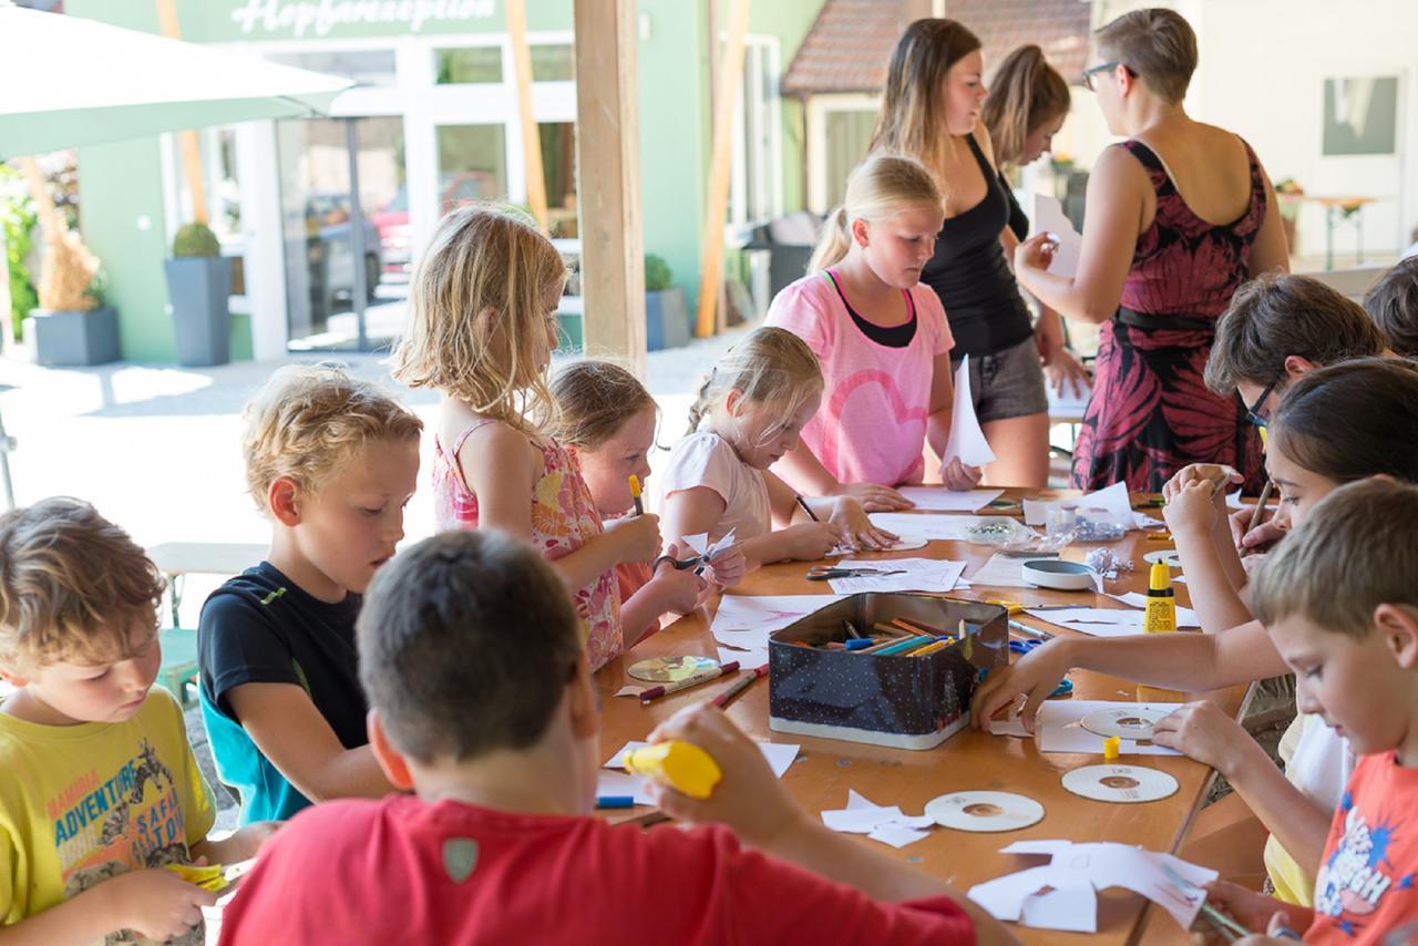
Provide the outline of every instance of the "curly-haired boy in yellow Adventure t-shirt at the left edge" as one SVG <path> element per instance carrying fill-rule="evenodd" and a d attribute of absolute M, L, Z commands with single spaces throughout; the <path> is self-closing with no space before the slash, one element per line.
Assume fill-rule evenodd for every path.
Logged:
<path fill-rule="evenodd" d="M 164 864 L 254 857 L 207 840 L 182 709 L 153 689 L 163 577 L 78 499 L 0 516 L 0 940 L 201 943 L 217 895 Z"/>

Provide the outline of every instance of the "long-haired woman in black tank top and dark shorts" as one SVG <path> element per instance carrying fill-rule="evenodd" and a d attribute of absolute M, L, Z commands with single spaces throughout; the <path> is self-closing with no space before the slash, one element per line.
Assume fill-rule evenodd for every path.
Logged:
<path fill-rule="evenodd" d="M 954 20 L 916 20 L 892 54 L 871 152 L 923 163 L 946 197 L 946 221 L 920 281 L 940 296 L 959 367 L 970 357 L 970 396 L 997 460 L 993 485 L 1048 481 L 1048 399 L 1029 311 L 1007 262 L 1015 238 L 984 105 L 980 40 Z M 1055 350 L 1062 332 L 1054 335 Z"/>

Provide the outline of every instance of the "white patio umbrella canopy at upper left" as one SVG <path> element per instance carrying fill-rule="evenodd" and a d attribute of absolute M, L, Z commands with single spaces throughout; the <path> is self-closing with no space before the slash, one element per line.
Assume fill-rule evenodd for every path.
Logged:
<path fill-rule="evenodd" d="M 0 0 L 0 159 L 328 113 L 352 81 Z"/>

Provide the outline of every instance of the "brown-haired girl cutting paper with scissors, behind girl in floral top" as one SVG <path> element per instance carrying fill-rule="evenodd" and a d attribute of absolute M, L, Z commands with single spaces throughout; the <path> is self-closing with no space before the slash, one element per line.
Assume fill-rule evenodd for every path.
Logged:
<path fill-rule="evenodd" d="M 655 443 L 657 407 L 635 376 L 610 362 L 577 362 L 552 380 L 559 421 L 556 440 L 576 460 L 603 519 L 624 516 L 634 502 L 630 478 L 649 477 L 649 448 Z M 705 579 L 676 570 L 672 559 L 688 555 L 669 546 L 649 562 L 615 566 L 621 596 L 621 625 L 630 628 L 627 647 L 659 630 L 662 614 L 688 614 L 706 591 Z M 720 555 L 708 569 L 709 580 L 735 584 L 743 577 L 743 553 Z"/>

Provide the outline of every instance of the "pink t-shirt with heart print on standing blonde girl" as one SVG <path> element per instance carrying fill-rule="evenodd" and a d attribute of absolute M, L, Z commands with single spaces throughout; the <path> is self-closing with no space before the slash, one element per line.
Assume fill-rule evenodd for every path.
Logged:
<path fill-rule="evenodd" d="M 954 339 L 933 289 L 916 284 L 906 301 L 916 332 L 905 347 L 866 338 L 825 272 L 787 286 L 769 309 L 764 325 L 801 338 L 822 365 L 822 407 L 803 428 L 803 443 L 838 482 L 895 486 L 925 474 L 934 359 L 949 355 Z M 858 315 L 871 321 L 869 312 Z"/>

